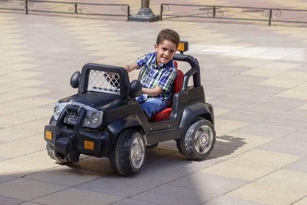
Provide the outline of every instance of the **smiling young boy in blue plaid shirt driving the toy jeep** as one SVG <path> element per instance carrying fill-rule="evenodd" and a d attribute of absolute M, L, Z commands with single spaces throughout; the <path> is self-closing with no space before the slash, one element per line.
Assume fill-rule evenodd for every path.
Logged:
<path fill-rule="evenodd" d="M 141 78 L 142 94 L 136 99 L 147 118 L 168 107 L 177 70 L 172 57 L 179 45 L 179 35 L 163 29 L 157 37 L 155 52 L 147 53 L 133 64 L 125 65 L 128 72 L 146 67 Z"/>

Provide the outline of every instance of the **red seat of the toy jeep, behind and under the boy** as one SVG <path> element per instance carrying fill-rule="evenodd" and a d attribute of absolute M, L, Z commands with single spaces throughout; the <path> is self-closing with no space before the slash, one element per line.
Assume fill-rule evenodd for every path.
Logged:
<path fill-rule="evenodd" d="M 174 61 L 174 64 L 176 68 L 178 68 L 177 61 Z M 184 76 L 183 72 L 177 69 L 177 77 L 175 78 L 173 83 L 173 93 L 177 93 L 180 91 L 182 86 L 183 76 Z M 172 96 L 170 97 L 169 107 L 152 115 L 150 121 L 160 121 L 166 119 L 170 115 L 171 104 L 172 104 Z"/>

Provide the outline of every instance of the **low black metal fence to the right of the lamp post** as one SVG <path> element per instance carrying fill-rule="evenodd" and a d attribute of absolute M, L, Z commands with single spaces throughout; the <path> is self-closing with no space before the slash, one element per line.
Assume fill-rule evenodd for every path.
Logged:
<path fill-rule="evenodd" d="M 173 8 L 174 10 L 170 10 L 170 7 Z M 233 19 L 233 20 L 257 20 L 261 22 L 268 22 L 269 26 L 271 26 L 272 22 L 300 23 L 300 24 L 307 23 L 307 10 L 273 9 L 273 8 L 257 8 L 257 7 L 161 4 L 160 20 L 162 20 L 163 16 Z"/>

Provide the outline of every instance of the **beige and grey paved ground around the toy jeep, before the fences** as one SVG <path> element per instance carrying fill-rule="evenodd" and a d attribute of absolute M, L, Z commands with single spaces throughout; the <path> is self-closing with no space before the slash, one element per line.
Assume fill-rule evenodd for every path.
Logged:
<path fill-rule="evenodd" d="M 7 13 L 0 25 L 0 204 L 307 203 L 306 28 Z M 168 141 L 131 177 L 104 158 L 51 160 L 43 126 L 53 104 L 76 93 L 71 74 L 89 62 L 133 62 L 163 28 L 200 61 L 216 118 L 210 157 L 190 161 Z"/>

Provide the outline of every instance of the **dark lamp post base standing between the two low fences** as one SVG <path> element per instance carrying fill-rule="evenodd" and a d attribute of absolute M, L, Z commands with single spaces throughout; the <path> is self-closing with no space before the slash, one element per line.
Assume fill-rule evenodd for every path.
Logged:
<path fill-rule="evenodd" d="M 138 14 L 129 16 L 129 20 L 135 22 L 157 22 L 159 19 L 160 16 L 153 14 L 149 8 L 149 0 L 141 0 L 141 8 Z"/>

